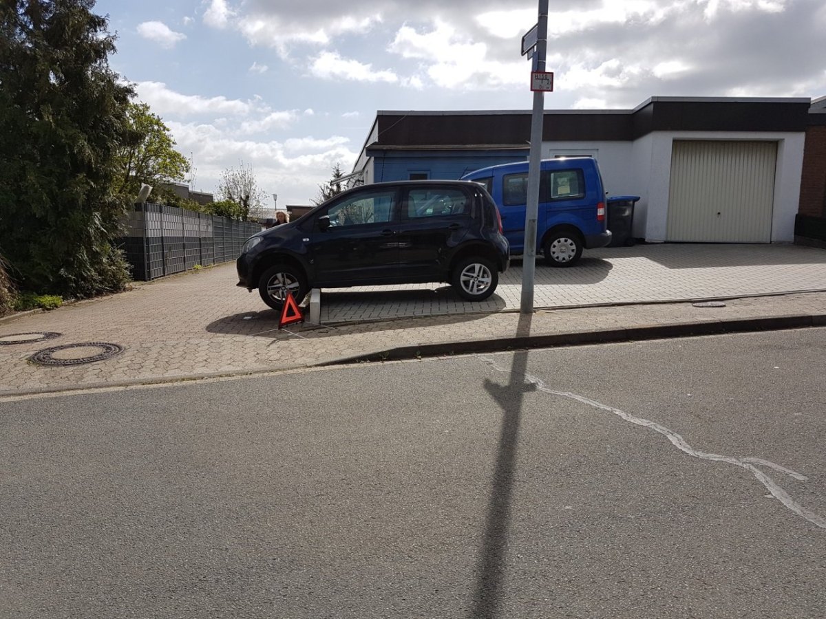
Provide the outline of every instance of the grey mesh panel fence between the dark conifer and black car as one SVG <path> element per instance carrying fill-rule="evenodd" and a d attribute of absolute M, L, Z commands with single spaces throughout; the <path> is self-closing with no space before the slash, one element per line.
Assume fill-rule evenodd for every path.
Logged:
<path fill-rule="evenodd" d="M 248 221 L 149 203 L 136 204 L 124 224 L 122 246 L 138 281 L 235 260 L 244 241 L 261 229 Z"/>

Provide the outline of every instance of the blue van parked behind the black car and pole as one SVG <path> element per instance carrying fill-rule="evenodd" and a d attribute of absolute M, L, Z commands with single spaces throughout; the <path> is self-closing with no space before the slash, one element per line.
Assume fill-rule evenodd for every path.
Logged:
<path fill-rule="evenodd" d="M 540 169 L 536 248 L 554 267 L 571 267 L 583 248 L 611 240 L 600 168 L 591 157 L 571 157 L 545 159 Z M 511 255 L 523 253 L 528 162 L 482 168 L 462 180 L 482 184 L 493 196 Z"/>

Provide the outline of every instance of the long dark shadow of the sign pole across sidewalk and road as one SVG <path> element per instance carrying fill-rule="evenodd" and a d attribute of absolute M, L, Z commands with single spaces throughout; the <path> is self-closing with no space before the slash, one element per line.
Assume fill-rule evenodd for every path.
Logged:
<path fill-rule="evenodd" d="M 530 314 L 520 314 L 517 336 L 530 333 L 530 321 Z M 525 395 L 536 390 L 536 385 L 525 378 L 528 354 L 528 351 L 514 353 L 507 385 L 498 385 L 487 378 L 484 382 L 485 390 L 499 404 L 503 415 L 485 533 L 477 560 L 471 619 L 495 619 L 500 615 L 522 407 Z"/>

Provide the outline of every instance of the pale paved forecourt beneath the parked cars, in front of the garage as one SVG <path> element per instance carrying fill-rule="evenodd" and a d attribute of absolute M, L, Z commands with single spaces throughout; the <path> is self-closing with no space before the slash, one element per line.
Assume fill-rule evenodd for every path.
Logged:
<path fill-rule="evenodd" d="M 519 309 L 521 262 L 482 303 L 449 286 L 368 286 L 324 291 L 321 322 Z M 586 251 L 571 268 L 537 260 L 534 307 L 634 303 L 826 289 L 826 250 L 796 245 L 657 244 Z"/>

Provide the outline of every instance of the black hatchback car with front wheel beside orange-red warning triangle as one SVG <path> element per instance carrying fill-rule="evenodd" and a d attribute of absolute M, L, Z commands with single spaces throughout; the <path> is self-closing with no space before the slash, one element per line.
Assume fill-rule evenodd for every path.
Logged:
<path fill-rule="evenodd" d="M 282 309 L 311 288 L 447 281 L 465 300 L 493 294 L 508 242 L 491 196 L 475 182 L 409 181 L 344 191 L 298 220 L 254 234 L 238 286 Z"/>

